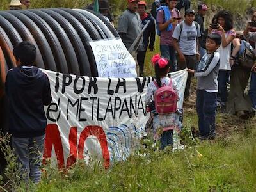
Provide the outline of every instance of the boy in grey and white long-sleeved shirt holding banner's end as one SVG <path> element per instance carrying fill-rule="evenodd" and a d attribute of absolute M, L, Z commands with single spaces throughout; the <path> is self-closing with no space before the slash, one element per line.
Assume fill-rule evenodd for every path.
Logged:
<path fill-rule="evenodd" d="M 198 115 L 198 127 L 202 140 L 214 139 L 216 97 L 218 92 L 218 71 L 220 67 L 220 53 L 216 50 L 220 47 L 221 36 L 217 33 L 208 35 L 206 41 L 207 53 L 202 57 L 198 70 L 188 69 L 197 79 L 196 111 Z"/>

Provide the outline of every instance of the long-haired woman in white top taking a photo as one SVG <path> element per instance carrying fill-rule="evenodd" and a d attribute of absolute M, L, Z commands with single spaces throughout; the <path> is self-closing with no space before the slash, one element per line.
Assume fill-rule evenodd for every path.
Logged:
<path fill-rule="evenodd" d="M 220 102 L 221 113 L 226 112 L 226 102 L 228 98 L 227 83 L 230 76 L 230 54 L 231 42 L 236 37 L 236 31 L 233 29 L 233 19 L 230 12 L 221 10 L 214 16 L 216 20 L 210 24 L 208 34 L 218 33 L 221 35 L 221 45 L 218 48 L 220 52 L 220 70 L 218 75 L 218 101 Z"/>

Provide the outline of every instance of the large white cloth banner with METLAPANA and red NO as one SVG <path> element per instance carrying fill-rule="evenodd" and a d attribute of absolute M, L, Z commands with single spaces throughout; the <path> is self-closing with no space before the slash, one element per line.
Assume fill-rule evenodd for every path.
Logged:
<path fill-rule="evenodd" d="M 147 85 L 152 77 L 83 77 L 44 70 L 51 83 L 52 103 L 45 106 L 45 159 L 56 157 L 60 168 L 77 159 L 126 159 L 138 148 L 148 114 Z M 186 70 L 172 74 L 183 98 Z M 182 108 L 182 101 L 178 104 Z"/>

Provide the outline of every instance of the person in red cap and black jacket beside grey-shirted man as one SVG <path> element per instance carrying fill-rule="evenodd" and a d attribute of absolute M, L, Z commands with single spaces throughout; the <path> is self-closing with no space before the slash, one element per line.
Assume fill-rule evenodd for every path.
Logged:
<path fill-rule="evenodd" d="M 145 62 L 147 48 L 149 47 L 150 51 L 154 51 L 154 43 L 156 38 L 155 20 L 152 17 L 152 15 L 150 15 L 150 13 L 146 13 L 146 9 L 147 9 L 146 2 L 140 1 L 138 3 L 138 13 L 140 15 L 140 19 L 142 22 L 142 28 L 144 28 L 147 22 L 150 22 L 147 26 L 147 29 L 145 29 L 143 33 L 143 43 L 145 46 L 145 51 L 138 51 L 138 54 L 137 54 L 137 61 L 140 67 L 140 76 L 143 76 L 144 62 Z M 149 42 L 149 39 L 150 39 L 150 42 Z"/>

